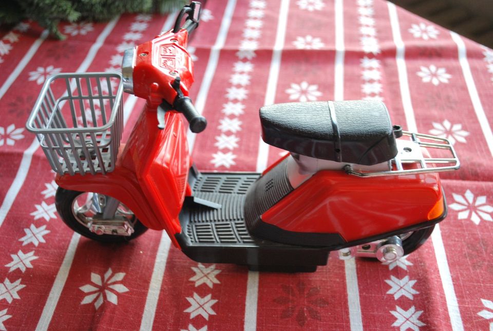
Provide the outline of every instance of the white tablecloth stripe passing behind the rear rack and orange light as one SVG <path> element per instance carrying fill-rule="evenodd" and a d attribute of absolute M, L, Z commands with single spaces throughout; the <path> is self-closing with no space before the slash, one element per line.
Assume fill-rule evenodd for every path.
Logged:
<path fill-rule="evenodd" d="M 396 63 L 397 70 L 399 71 L 399 83 L 401 86 L 401 98 L 406 114 L 406 121 L 408 130 L 411 132 L 417 132 L 416 121 L 414 118 L 414 111 L 411 103 L 411 95 L 409 91 L 409 84 L 407 80 L 407 68 L 404 58 L 404 42 L 402 41 L 401 29 L 399 26 L 399 17 L 397 17 L 397 10 L 395 5 L 388 3 L 390 24 L 392 28 L 392 35 L 395 46 L 397 48 Z M 470 72 L 470 71 L 469 71 Z M 469 86 L 468 86 L 469 88 Z M 445 293 L 445 300 L 447 302 L 448 315 L 450 317 L 450 324 L 454 331 L 463 330 L 461 313 L 459 305 L 457 303 L 456 291 L 453 288 L 452 277 L 450 275 L 450 268 L 448 266 L 447 254 L 445 253 L 445 247 L 443 245 L 442 234 L 440 226 L 437 224 L 433 233 L 431 234 L 431 241 L 433 243 L 433 249 L 435 257 L 437 258 L 438 270 L 442 281 L 443 290 Z"/>

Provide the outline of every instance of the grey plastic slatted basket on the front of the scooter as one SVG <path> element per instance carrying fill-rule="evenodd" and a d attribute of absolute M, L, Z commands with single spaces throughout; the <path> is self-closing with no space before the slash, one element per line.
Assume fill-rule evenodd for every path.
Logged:
<path fill-rule="evenodd" d="M 56 173 L 106 174 L 115 168 L 122 93 L 119 73 L 60 73 L 46 80 L 26 128 L 36 134 Z"/>

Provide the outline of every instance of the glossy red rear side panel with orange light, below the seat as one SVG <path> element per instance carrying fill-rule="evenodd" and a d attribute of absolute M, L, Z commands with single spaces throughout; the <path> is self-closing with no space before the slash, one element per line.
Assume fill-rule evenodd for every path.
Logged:
<path fill-rule="evenodd" d="M 263 222 L 302 233 L 339 233 L 346 242 L 429 220 L 443 199 L 437 174 L 360 178 L 320 171 L 262 214 Z"/>

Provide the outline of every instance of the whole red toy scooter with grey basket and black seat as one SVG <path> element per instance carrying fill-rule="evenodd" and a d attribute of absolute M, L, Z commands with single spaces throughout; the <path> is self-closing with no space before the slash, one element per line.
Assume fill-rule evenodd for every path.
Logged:
<path fill-rule="evenodd" d="M 195 168 L 182 115 L 206 127 L 188 98 L 199 14 L 193 2 L 173 30 L 125 51 L 122 75 L 46 81 L 27 128 L 58 173 L 63 221 L 103 242 L 164 229 L 195 261 L 251 270 L 314 271 L 331 251 L 392 262 L 420 247 L 447 213 L 437 173 L 459 159 L 447 139 L 393 126 L 382 102 L 264 106 L 262 138 L 287 156 L 263 173 Z M 146 100 L 125 145 L 123 91 Z"/>

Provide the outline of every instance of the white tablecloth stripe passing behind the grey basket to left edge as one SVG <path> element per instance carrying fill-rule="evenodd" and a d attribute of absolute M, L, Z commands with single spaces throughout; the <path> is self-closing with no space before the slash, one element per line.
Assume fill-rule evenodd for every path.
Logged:
<path fill-rule="evenodd" d="M 98 52 L 98 50 L 103 45 L 104 41 L 106 40 L 106 37 L 109 35 L 111 30 L 113 30 L 113 28 L 117 24 L 118 20 L 119 20 L 119 17 L 116 17 L 115 19 L 111 20 L 106 25 L 106 27 L 103 29 L 101 34 L 98 36 L 98 39 L 96 40 L 96 42 L 89 49 L 89 52 L 87 53 L 86 58 L 84 59 L 84 61 L 81 63 L 81 65 L 77 69 L 77 72 L 87 71 L 87 68 L 89 68 L 89 65 L 94 60 L 94 57 L 96 57 L 96 53 Z M 2 88 L 3 88 L 3 86 L 2 86 Z M 7 214 L 9 213 L 9 210 L 12 207 L 12 204 L 13 204 L 15 198 L 17 197 L 17 194 L 21 190 L 21 188 L 24 184 L 24 181 L 26 180 L 27 173 L 29 172 L 29 168 L 31 167 L 32 155 L 37 150 L 39 145 L 40 145 L 40 143 L 37 141 L 37 138 L 34 138 L 33 142 L 29 146 L 29 148 L 24 151 L 24 154 L 22 156 L 21 165 L 20 165 L 19 169 L 17 170 L 17 174 L 15 175 L 15 178 L 12 182 L 12 185 L 10 185 L 9 190 L 7 191 L 7 194 L 5 195 L 5 199 L 2 203 L 2 207 L 0 207 L 0 227 L 2 227 L 2 224 L 4 223 L 5 217 L 7 217 Z"/>

